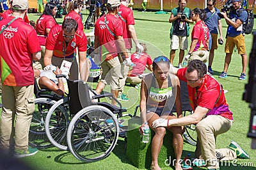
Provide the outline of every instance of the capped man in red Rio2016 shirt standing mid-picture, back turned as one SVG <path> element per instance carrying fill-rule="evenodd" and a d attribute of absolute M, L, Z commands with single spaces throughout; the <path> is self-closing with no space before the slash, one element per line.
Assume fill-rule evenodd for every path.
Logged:
<path fill-rule="evenodd" d="M 100 94 L 107 84 L 111 86 L 111 93 L 118 98 L 119 91 L 122 91 L 124 79 L 121 70 L 121 60 L 130 61 L 124 42 L 122 21 L 116 17 L 120 6 L 120 0 L 108 0 L 106 8 L 108 13 L 100 17 L 95 23 L 95 55 L 94 61 L 102 67 L 101 80 L 99 81 L 96 93 Z M 122 59 L 118 58 L 122 55 Z M 102 63 L 100 61 L 102 60 Z M 124 80 L 125 82 L 125 80 Z M 112 104 L 116 102 L 112 100 Z"/>

